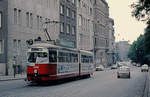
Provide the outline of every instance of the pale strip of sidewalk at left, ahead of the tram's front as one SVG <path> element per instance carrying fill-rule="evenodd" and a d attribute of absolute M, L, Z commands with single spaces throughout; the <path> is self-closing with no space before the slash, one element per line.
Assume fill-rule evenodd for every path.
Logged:
<path fill-rule="evenodd" d="M 16 74 L 15 78 L 14 78 L 14 76 L 0 75 L 0 81 L 21 80 L 21 79 L 25 79 L 25 78 L 26 78 L 26 74 Z"/>

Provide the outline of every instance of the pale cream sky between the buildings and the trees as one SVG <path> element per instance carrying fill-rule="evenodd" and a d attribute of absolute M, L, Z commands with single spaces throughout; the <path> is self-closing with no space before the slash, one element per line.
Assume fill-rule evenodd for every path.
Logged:
<path fill-rule="evenodd" d="M 106 0 L 109 5 L 110 17 L 115 22 L 116 41 L 135 41 L 146 27 L 144 22 L 137 21 L 131 16 L 130 5 L 137 0 Z"/>

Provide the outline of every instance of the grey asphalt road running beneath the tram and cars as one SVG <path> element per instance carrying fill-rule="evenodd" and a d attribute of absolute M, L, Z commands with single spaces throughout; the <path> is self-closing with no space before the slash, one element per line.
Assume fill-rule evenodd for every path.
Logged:
<path fill-rule="evenodd" d="M 87 79 L 57 85 L 28 86 L 23 80 L 0 82 L 0 97 L 142 97 L 147 73 L 132 68 L 131 78 L 116 70 L 98 71 Z"/>

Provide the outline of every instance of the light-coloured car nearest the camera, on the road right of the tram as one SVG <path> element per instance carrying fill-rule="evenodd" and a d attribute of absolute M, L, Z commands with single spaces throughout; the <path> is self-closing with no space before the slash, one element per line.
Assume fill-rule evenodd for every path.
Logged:
<path fill-rule="evenodd" d="M 121 66 L 117 71 L 117 77 L 128 77 L 130 78 L 130 67 L 128 66 Z"/>

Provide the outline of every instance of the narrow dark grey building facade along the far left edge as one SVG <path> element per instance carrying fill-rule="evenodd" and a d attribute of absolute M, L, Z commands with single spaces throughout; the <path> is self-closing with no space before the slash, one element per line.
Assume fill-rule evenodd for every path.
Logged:
<path fill-rule="evenodd" d="M 8 1 L 0 1 L 0 74 L 7 74 Z"/>

